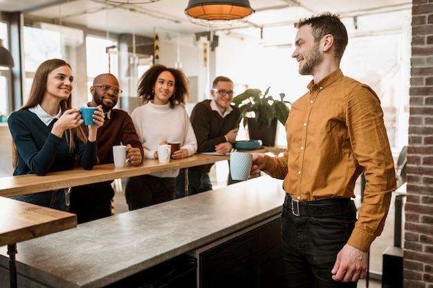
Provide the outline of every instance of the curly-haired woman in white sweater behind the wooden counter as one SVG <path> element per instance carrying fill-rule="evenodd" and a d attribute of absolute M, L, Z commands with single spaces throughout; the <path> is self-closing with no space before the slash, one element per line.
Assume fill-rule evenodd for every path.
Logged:
<path fill-rule="evenodd" d="M 197 151 L 197 141 L 185 110 L 190 96 L 188 80 L 178 69 L 156 65 L 138 82 L 138 96 L 143 105 L 133 110 L 131 118 L 145 150 L 145 158 L 158 158 L 158 145 L 180 142 L 181 149 L 172 158 L 183 159 Z M 168 170 L 126 181 L 125 197 L 129 210 L 162 203 L 175 198 L 179 170 Z"/>

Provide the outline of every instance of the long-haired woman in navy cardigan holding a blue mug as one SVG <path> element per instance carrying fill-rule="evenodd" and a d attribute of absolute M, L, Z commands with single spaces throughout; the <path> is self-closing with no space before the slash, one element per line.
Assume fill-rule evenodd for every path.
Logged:
<path fill-rule="evenodd" d="M 38 67 L 26 105 L 8 118 L 14 175 L 69 170 L 75 158 L 91 170 L 98 161 L 96 134 L 104 114 L 99 107 L 93 114 L 95 125 L 82 126 L 80 109 L 71 107 L 72 82 L 71 66 L 64 60 L 47 60 Z M 68 192 L 66 188 L 12 198 L 68 211 Z"/>

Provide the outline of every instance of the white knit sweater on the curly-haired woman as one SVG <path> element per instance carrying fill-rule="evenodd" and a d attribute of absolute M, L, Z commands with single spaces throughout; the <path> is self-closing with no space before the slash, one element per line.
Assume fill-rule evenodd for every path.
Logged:
<path fill-rule="evenodd" d="M 154 159 L 154 152 L 162 142 L 181 143 L 181 148 L 188 150 L 188 156 L 197 152 L 197 140 L 190 118 L 183 105 L 173 109 L 167 105 L 154 105 L 147 102 L 132 111 L 131 118 L 136 126 L 138 138 L 143 143 L 145 158 Z M 179 170 L 157 172 L 156 177 L 176 177 Z"/>

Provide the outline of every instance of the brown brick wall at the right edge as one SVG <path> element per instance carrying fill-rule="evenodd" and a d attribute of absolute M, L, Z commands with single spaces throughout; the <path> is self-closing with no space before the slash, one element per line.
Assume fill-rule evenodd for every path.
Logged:
<path fill-rule="evenodd" d="M 412 2 L 404 287 L 433 287 L 433 1 Z"/>

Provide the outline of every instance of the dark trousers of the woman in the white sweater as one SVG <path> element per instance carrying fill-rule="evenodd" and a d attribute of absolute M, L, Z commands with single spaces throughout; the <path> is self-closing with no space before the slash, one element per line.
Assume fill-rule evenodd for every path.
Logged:
<path fill-rule="evenodd" d="M 151 206 L 173 200 L 176 193 L 175 177 L 141 175 L 127 178 L 125 198 L 129 210 Z"/>

